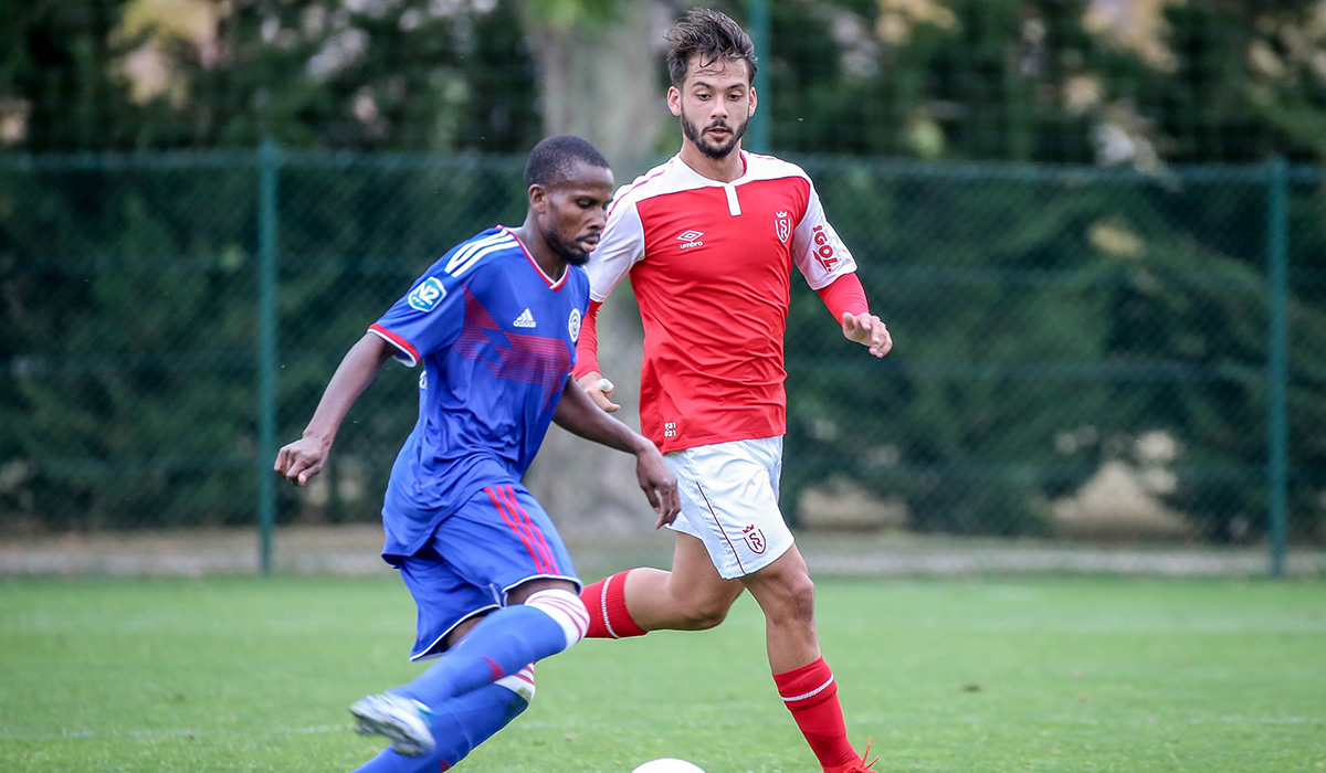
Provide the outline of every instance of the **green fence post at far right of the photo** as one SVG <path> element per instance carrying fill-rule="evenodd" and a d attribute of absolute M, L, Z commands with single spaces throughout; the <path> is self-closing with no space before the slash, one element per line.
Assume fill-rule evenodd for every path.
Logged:
<path fill-rule="evenodd" d="M 1284 577 L 1289 538 L 1289 174 L 1284 158 L 1268 162 L 1268 184 L 1266 483 L 1270 488 L 1270 574 Z"/>

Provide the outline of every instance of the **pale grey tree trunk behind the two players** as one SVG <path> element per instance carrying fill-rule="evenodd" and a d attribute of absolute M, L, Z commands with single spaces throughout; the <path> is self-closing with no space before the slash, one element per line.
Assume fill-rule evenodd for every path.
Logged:
<path fill-rule="evenodd" d="M 619 0 L 615 13 L 553 24 L 526 8 L 526 40 L 538 66 L 545 135 L 593 142 L 623 184 L 658 160 L 668 131 L 663 33 L 670 8 L 656 0 Z M 680 142 L 678 139 L 678 142 Z M 619 419 L 639 428 L 643 333 L 630 285 L 622 282 L 598 316 L 599 363 L 617 385 Z M 553 427 L 525 477 L 568 534 L 648 532 L 655 521 L 635 483 L 635 459 Z M 589 579 L 589 578 L 586 578 Z"/>

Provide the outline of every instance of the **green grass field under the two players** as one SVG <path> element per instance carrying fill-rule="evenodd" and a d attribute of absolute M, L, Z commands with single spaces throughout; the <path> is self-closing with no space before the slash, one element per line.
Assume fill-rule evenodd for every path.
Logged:
<path fill-rule="evenodd" d="M 0 583 L 0 770 L 350 770 L 345 707 L 410 679 L 386 578 Z M 851 736 L 880 772 L 1326 769 L 1326 585 L 821 581 Z M 818 770 L 749 598 L 723 627 L 585 642 L 459 769 Z"/>

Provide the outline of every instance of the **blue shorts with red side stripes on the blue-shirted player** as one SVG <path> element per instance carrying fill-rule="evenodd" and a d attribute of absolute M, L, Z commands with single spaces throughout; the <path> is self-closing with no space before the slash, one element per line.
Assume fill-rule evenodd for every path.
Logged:
<path fill-rule="evenodd" d="M 518 483 L 469 497 L 399 569 L 419 607 L 411 660 L 446 652 L 452 628 L 507 606 L 507 593 L 529 579 L 581 583 L 552 518 Z"/>

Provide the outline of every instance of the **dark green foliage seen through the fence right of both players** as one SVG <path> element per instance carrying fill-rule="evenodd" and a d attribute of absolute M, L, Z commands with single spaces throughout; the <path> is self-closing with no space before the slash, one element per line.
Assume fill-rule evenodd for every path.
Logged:
<path fill-rule="evenodd" d="M 1154 493 L 1203 537 L 1264 534 L 1266 178 L 809 168 L 896 347 L 867 362 L 818 298 L 797 298 L 786 503 L 837 473 L 906 503 L 920 530 L 1034 534 L 1049 500 L 1116 460 L 1168 477 Z M 1299 223 L 1290 255 L 1306 269 L 1326 235 Z M 1326 314 L 1305 274 L 1290 286 L 1290 497 L 1310 538 L 1326 468 L 1310 331 Z M 1174 456 L 1150 456 L 1146 436 Z"/>

